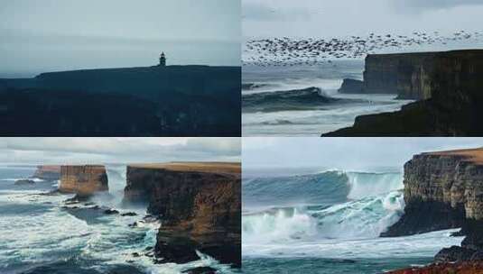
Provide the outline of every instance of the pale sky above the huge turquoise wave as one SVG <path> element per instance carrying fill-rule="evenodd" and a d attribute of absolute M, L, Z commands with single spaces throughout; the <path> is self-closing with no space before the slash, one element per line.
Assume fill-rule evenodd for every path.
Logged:
<path fill-rule="evenodd" d="M 483 138 L 244 138 L 243 167 L 371 171 L 424 151 L 483 147 Z"/>

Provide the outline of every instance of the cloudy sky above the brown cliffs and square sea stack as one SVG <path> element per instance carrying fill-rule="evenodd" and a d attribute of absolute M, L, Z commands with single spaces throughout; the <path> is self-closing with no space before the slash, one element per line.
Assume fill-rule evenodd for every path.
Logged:
<path fill-rule="evenodd" d="M 240 138 L 0 138 L 0 163 L 239 161 L 240 146 Z"/>

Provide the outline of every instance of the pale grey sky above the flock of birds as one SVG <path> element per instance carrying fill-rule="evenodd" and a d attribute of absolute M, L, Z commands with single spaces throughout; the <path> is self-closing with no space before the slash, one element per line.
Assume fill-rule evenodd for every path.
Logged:
<path fill-rule="evenodd" d="M 481 31 L 481 0 L 243 0 L 245 37 Z"/>

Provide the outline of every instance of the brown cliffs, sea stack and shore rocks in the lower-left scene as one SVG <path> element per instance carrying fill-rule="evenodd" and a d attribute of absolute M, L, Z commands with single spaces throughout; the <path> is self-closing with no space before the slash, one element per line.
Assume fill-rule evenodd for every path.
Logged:
<path fill-rule="evenodd" d="M 55 168 L 52 168 L 55 167 Z M 97 194 L 107 193 L 107 169 L 103 165 L 38 166 L 33 178 L 53 178 L 58 170 L 57 191 L 75 194 L 63 201 L 62 210 L 85 219 L 103 215 L 136 216 L 131 205 L 146 208 L 144 217 L 130 227 L 146 224 L 159 227 L 156 243 L 149 250 L 136 251 L 136 257 L 149 257 L 154 263 L 188 263 L 200 254 L 241 268 L 241 165 L 230 162 L 172 162 L 126 166 L 123 196 L 125 208 L 98 205 Z M 44 177 L 45 177 L 44 176 Z M 34 184 L 30 179 L 18 185 Z M 112 205 L 111 205 L 112 206 Z M 90 219 L 89 219 L 90 218 Z M 187 273 L 215 273 L 200 267 Z"/>

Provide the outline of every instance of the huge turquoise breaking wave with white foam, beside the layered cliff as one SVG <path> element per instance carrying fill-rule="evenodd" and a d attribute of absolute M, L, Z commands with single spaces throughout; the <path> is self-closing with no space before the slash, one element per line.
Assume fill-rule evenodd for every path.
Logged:
<path fill-rule="evenodd" d="M 251 179 L 244 205 L 279 204 L 243 216 L 244 242 L 376 238 L 404 212 L 402 181 L 395 172 L 341 171 Z"/>

